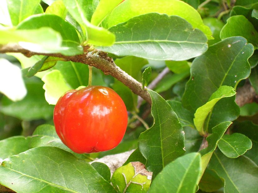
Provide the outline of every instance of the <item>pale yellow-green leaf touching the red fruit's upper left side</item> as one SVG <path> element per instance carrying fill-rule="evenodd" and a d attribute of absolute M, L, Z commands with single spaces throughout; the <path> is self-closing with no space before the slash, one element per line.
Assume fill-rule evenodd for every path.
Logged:
<path fill-rule="evenodd" d="M 42 77 L 45 83 L 43 89 L 45 90 L 45 99 L 49 104 L 56 104 L 58 99 L 72 87 L 64 80 L 63 75 L 59 70 L 53 70 Z"/>

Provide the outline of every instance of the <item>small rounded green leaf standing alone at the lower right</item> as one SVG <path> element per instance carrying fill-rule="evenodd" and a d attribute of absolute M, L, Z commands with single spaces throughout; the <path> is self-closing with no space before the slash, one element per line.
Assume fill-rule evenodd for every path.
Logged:
<path fill-rule="evenodd" d="M 252 148 L 252 141 L 243 134 L 224 135 L 218 142 L 218 148 L 228 158 L 237 158 Z"/>

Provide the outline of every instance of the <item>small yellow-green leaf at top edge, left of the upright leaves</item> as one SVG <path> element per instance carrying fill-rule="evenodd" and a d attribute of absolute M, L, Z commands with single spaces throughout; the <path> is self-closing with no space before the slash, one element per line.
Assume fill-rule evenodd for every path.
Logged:
<path fill-rule="evenodd" d="M 67 10 L 62 0 L 56 0 L 49 7 L 47 7 L 45 13 L 57 15 L 60 16 L 62 19 L 65 19 Z"/>

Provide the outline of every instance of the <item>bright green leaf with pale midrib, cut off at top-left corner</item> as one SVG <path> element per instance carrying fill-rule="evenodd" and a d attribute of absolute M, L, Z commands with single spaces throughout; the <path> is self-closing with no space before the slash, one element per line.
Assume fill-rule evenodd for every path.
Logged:
<path fill-rule="evenodd" d="M 7 0 L 7 7 L 12 20 L 12 25 L 18 25 L 27 17 L 34 14 L 40 0 Z"/>

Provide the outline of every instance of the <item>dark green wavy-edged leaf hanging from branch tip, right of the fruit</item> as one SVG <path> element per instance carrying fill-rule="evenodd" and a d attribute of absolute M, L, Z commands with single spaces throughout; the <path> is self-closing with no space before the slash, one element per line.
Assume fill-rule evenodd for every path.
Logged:
<path fill-rule="evenodd" d="M 146 167 L 155 177 L 168 163 L 184 154 L 184 131 L 177 115 L 159 94 L 148 90 L 152 99 L 153 126 L 141 133 L 138 148 Z"/>

